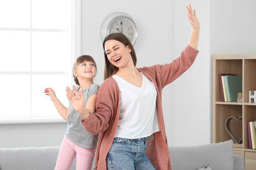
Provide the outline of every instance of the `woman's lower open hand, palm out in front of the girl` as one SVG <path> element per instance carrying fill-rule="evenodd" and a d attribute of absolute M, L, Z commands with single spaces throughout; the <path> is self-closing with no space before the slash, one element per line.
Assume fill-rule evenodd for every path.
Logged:
<path fill-rule="evenodd" d="M 84 107 L 84 97 L 83 97 L 82 91 L 78 93 L 74 85 L 73 85 L 73 90 L 74 90 L 74 93 L 69 87 L 67 87 L 66 95 L 70 104 L 74 108 L 74 110 L 78 112 L 79 110 L 82 109 L 82 107 Z"/>

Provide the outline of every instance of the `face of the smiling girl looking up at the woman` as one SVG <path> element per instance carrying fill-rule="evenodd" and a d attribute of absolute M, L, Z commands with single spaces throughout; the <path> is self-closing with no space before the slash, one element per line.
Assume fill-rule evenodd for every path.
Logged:
<path fill-rule="evenodd" d="M 91 61 L 83 61 L 77 66 L 76 70 L 73 71 L 73 74 L 78 78 L 78 80 L 92 80 L 96 75 L 95 64 Z"/>

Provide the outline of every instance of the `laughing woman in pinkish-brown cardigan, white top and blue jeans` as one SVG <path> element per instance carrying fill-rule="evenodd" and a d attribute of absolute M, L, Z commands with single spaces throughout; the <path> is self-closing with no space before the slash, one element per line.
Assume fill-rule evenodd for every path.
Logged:
<path fill-rule="evenodd" d="M 67 87 L 83 127 L 91 134 L 100 133 L 95 170 L 171 170 L 161 94 L 165 85 L 190 68 L 198 53 L 200 24 L 190 5 L 187 12 L 192 37 L 170 64 L 136 68 L 136 54 L 127 37 L 114 33 L 105 38 L 105 81 L 95 113 Z"/>

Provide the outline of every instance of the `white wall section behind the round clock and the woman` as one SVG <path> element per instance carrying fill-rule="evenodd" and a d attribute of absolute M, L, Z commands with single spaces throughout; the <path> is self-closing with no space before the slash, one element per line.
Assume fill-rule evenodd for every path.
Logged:
<path fill-rule="evenodd" d="M 101 5 L 99 5 L 101 4 Z M 165 64 L 174 56 L 174 1 L 161 0 L 119 0 L 82 1 L 82 54 L 90 54 L 97 63 L 99 85 L 103 81 L 104 53 L 101 42 L 101 23 L 112 12 L 122 11 L 131 16 L 137 25 L 137 67 Z M 186 7 L 184 6 L 184 13 Z M 185 18 L 187 20 L 187 17 Z M 188 43 L 186 37 L 183 47 Z M 163 109 L 169 143 L 173 144 L 174 134 L 174 91 L 173 85 L 165 88 Z"/>

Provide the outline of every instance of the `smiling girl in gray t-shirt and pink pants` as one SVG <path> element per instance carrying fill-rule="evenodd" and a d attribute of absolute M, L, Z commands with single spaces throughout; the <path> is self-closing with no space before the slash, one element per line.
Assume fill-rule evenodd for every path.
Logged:
<path fill-rule="evenodd" d="M 96 63 L 89 55 L 83 55 L 76 59 L 73 64 L 73 77 L 77 87 L 83 96 L 83 106 L 93 113 L 99 85 L 93 83 L 96 75 Z M 88 133 L 82 126 L 82 118 L 69 104 L 68 109 L 57 99 L 52 88 L 45 89 L 46 95 L 51 100 L 60 115 L 67 120 L 68 125 L 62 141 L 55 170 L 69 170 L 76 156 L 76 170 L 91 170 L 95 155 L 98 135 Z"/>

